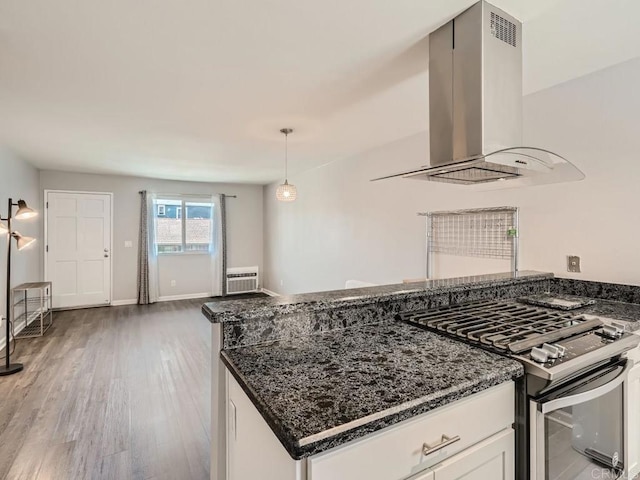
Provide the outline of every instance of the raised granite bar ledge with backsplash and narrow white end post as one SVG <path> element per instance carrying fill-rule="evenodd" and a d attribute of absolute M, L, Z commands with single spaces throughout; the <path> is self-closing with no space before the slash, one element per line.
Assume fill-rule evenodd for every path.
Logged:
<path fill-rule="evenodd" d="M 212 323 L 211 478 L 227 479 L 229 372 L 221 351 L 388 322 L 404 310 L 549 291 L 552 274 L 522 271 L 250 301 L 205 303 Z M 419 398 L 416 397 L 416 399 Z"/>

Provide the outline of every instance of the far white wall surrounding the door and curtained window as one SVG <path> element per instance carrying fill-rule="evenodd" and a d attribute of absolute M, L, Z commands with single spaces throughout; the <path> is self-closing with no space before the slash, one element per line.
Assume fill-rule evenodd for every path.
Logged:
<path fill-rule="evenodd" d="M 43 170 L 42 190 L 112 192 L 114 194 L 113 278 L 114 301 L 137 297 L 138 228 L 140 195 L 138 191 L 158 193 L 237 195 L 227 200 L 227 253 L 229 267 L 258 265 L 262 262 L 262 186 L 178 182 L 140 177 L 91 175 Z M 42 204 L 42 200 L 41 200 Z M 125 248 L 131 240 L 133 248 Z M 201 255 L 163 256 L 159 260 L 160 296 L 192 295 L 211 290 L 209 262 Z M 176 281 L 175 287 L 171 280 Z"/>

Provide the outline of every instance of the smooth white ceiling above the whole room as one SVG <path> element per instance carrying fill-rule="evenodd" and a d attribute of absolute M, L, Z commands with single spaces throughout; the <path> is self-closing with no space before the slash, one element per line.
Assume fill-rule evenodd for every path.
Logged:
<path fill-rule="evenodd" d="M 295 181 L 427 130 L 427 35 L 473 3 L 0 0 L 0 144 L 43 169 L 269 183 L 291 127 Z M 492 3 L 524 22 L 525 94 L 640 56 L 640 2 Z"/>

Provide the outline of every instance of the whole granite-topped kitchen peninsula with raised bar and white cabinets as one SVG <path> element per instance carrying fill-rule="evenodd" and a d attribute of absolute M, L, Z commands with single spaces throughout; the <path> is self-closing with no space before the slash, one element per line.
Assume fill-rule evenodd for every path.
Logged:
<path fill-rule="evenodd" d="M 422 480 L 480 464 L 512 478 L 522 366 L 394 320 L 399 311 L 603 285 L 509 276 L 203 306 L 222 351 L 213 352 L 212 478 Z M 611 300 L 637 292 L 611 288 L 584 313 L 637 328 L 638 305 Z"/>

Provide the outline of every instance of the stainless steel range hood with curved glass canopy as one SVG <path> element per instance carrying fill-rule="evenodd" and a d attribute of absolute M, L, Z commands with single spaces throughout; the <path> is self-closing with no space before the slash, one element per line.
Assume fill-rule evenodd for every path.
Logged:
<path fill-rule="evenodd" d="M 522 24 L 484 0 L 429 35 L 429 139 L 431 165 L 374 180 L 503 188 L 584 178 L 522 146 Z"/>

